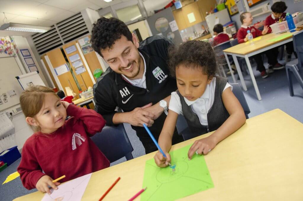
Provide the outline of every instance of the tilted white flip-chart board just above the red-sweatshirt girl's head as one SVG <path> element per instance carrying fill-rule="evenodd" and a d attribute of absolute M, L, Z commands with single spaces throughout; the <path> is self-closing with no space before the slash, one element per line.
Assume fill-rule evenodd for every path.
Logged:
<path fill-rule="evenodd" d="M 44 82 L 42 81 L 38 73 L 39 73 L 38 71 L 34 71 L 31 73 L 26 73 L 24 75 L 19 75 L 16 78 L 24 90 L 31 85 L 45 86 Z"/>

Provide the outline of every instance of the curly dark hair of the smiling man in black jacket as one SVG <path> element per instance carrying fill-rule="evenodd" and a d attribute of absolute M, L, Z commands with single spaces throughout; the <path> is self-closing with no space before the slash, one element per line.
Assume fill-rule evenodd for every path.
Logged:
<path fill-rule="evenodd" d="M 101 17 L 92 27 L 92 48 L 102 56 L 101 49 L 111 48 L 122 35 L 133 42 L 132 33 L 124 22 L 113 17 Z"/>

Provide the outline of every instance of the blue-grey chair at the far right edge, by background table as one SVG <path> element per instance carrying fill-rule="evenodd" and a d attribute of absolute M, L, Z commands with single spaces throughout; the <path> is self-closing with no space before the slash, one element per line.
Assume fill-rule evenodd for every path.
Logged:
<path fill-rule="evenodd" d="M 297 53 L 298 59 L 292 60 L 285 65 L 290 96 L 294 95 L 291 72 L 295 75 L 295 78 L 303 89 L 303 79 L 300 74 L 300 71 L 303 70 L 303 31 L 295 33 L 292 36 L 292 41 L 294 44 L 294 51 Z"/>

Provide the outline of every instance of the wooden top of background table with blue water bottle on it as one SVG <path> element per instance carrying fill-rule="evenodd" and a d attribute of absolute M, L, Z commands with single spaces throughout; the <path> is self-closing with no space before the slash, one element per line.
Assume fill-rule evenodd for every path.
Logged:
<path fill-rule="evenodd" d="M 240 55 L 246 55 L 249 53 L 252 53 L 254 51 L 257 51 L 259 49 L 271 46 L 275 43 L 281 42 L 283 40 L 289 39 L 292 37 L 292 34 L 294 34 L 296 32 L 285 32 L 285 33 L 281 33 L 281 34 L 274 34 L 274 33 L 270 33 L 270 34 L 266 34 L 264 36 L 259 36 L 257 38 L 254 38 L 254 44 L 250 45 L 249 42 L 247 41 L 246 43 L 240 43 L 238 45 L 232 46 L 230 48 L 224 49 L 223 52 L 228 52 L 228 53 L 234 53 L 234 54 L 240 54 Z M 285 38 L 281 38 L 283 36 L 286 36 Z M 274 40 L 276 39 L 276 41 L 270 41 L 270 40 Z"/>

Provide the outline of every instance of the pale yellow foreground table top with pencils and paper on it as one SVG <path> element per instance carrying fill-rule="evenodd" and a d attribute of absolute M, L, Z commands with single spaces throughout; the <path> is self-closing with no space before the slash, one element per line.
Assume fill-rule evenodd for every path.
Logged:
<path fill-rule="evenodd" d="M 210 134 L 173 145 L 171 150 Z M 246 120 L 204 156 L 215 187 L 180 200 L 302 200 L 302 134 L 303 124 L 279 109 Z M 82 200 L 98 200 L 118 177 L 104 200 L 131 198 L 142 189 L 145 162 L 155 153 L 94 172 Z M 34 192 L 15 200 L 41 200 L 43 195 Z"/>

